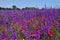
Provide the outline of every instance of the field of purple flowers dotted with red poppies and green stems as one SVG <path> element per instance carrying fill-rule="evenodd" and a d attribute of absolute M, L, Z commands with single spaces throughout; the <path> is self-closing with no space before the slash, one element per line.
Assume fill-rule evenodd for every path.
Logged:
<path fill-rule="evenodd" d="M 0 40 L 60 40 L 60 9 L 0 10 Z"/>

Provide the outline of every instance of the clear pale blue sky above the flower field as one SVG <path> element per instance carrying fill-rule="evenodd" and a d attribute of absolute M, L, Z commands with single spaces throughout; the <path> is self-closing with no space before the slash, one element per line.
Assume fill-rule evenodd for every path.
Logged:
<path fill-rule="evenodd" d="M 43 8 L 45 4 L 48 8 L 60 7 L 60 0 L 0 0 L 0 7 L 4 8 L 12 8 L 13 5 L 16 5 L 18 8 Z"/>

